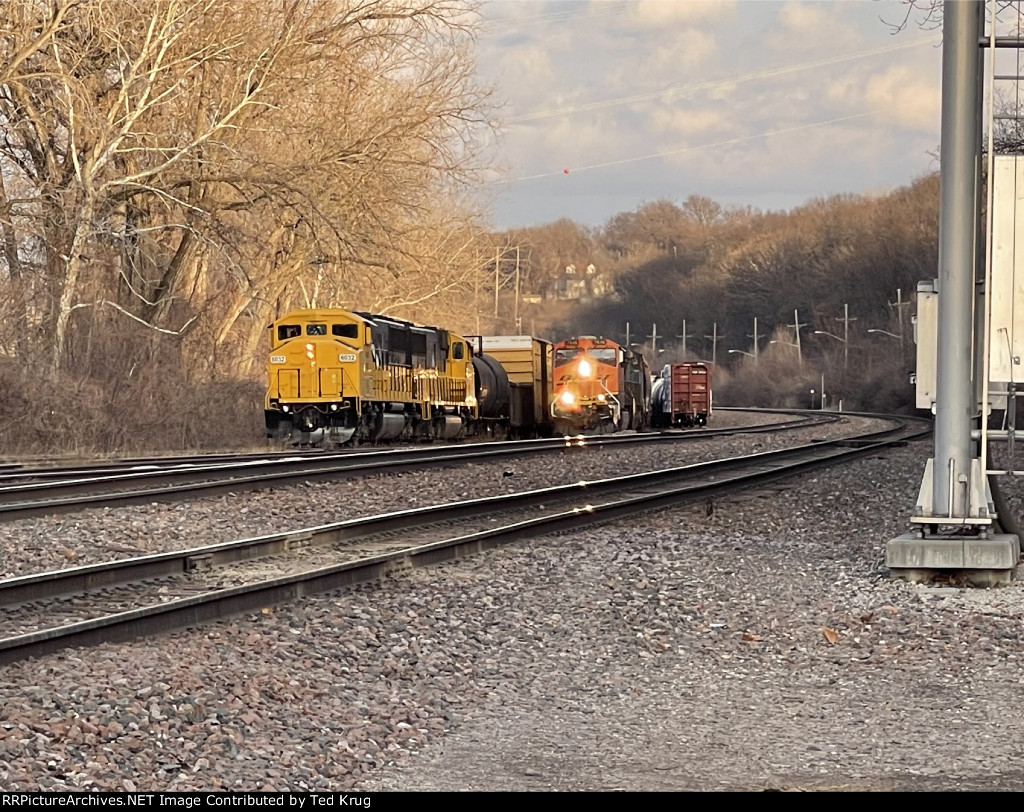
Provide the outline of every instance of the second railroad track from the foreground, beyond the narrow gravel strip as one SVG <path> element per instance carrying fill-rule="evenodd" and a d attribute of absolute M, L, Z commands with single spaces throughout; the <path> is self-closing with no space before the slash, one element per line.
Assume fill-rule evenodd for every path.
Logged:
<path fill-rule="evenodd" d="M 659 433 L 549 437 L 536 440 L 430 445 L 386 451 L 317 452 L 305 455 L 242 455 L 215 462 L 173 458 L 75 468 L 0 471 L 0 520 L 67 513 L 86 507 L 120 507 L 143 502 L 176 502 L 256 489 L 267 484 L 366 476 L 385 471 L 453 465 L 566 447 L 617 447 L 651 442 L 681 442 L 738 433 L 770 433 L 808 428 L 842 419 L 836 414 L 802 414 L 760 426 L 669 430 Z M 189 461 L 190 460 L 190 461 Z"/>

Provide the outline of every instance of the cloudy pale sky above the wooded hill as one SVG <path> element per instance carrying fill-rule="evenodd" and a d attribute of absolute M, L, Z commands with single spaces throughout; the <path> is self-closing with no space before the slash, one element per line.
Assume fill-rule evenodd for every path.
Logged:
<path fill-rule="evenodd" d="M 498 229 L 701 195 L 791 210 L 938 170 L 941 31 L 900 0 L 486 0 Z"/>

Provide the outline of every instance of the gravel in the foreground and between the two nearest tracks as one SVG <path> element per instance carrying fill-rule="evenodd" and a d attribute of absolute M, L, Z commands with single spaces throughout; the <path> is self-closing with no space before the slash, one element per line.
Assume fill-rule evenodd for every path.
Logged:
<path fill-rule="evenodd" d="M 713 454 L 676 447 L 676 464 Z M 1024 788 L 1024 589 L 921 587 L 882 567 L 929 454 L 6 667 L 0 787 Z M 665 464 L 647 456 L 604 464 Z M 600 457 L 443 480 L 538 487 L 610 475 Z M 379 494 L 439 501 L 431 478 L 380 477 Z M 90 536 L 101 558 L 371 507 L 351 482 L 282 488 L 26 520 L 0 546 L 33 571 L 68 558 L 23 552 L 47 537 L 77 563 Z"/>

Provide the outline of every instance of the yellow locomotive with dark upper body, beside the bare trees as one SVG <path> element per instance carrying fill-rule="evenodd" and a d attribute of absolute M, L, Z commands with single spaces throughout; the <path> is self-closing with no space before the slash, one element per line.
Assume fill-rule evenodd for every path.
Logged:
<path fill-rule="evenodd" d="M 462 336 L 340 308 L 273 322 L 267 436 L 298 443 L 454 439 L 479 417 Z"/>

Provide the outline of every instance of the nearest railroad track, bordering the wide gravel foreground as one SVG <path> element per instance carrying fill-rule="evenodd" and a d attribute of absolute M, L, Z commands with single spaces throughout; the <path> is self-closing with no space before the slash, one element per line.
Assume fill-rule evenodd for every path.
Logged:
<path fill-rule="evenodd" d="M 805 473 L 925 436 L 842 440 L 354 519 L 0 581 L 0 664 L 195 626 L 522 538 L 578 529 Z M 400 533 L 400 536 L 399 536 Z"/>

